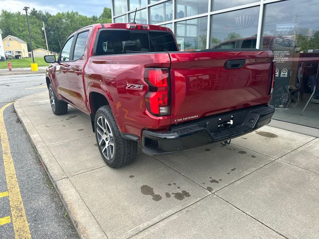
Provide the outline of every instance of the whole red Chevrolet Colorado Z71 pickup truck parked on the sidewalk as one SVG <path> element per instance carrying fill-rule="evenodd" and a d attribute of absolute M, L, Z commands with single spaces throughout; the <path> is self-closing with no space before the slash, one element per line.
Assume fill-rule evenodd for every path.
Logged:
<path fill-rule="evenodd" d="M 169 28 L 95 24 L 74 32 L 46 72 L 52 111 L 90 115 L 113 168 L 147 154 L 181 151 L 249 133 L 270 122 L 273 53 L 178 51 Z M 229 142 L 229 141 L 228 141 Z"/>

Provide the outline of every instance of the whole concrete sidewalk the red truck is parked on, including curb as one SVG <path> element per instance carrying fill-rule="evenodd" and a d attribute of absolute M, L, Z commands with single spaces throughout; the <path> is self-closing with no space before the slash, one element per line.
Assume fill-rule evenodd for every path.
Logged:
<path fill-rule="evenodd" d="M 265 126 L 112 169 L 90 119 L 47 93 L 14 104 L 81 238 L 319 238 L 319 139 Z"/>

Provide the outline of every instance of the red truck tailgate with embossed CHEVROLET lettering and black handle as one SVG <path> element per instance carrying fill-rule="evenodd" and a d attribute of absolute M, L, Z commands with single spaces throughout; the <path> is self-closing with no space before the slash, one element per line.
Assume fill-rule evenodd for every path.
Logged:
<path fill-rule="evenodd" d="M 169 56 L 172 124 L 270 100 L 270 51 L 205 50 Z"/>

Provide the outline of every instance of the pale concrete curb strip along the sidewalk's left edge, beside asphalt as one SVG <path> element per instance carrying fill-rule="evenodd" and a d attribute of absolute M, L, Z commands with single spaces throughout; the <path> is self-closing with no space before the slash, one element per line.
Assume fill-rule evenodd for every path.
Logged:
<path fill-rule="evenodd" d="M 54 185 L 64 208 L 68 212 L 68 216 L 79 235 L 79 238 L 108 239 L 70 179 L 64 173 L 49 148 L 43 142 L 32 122 L 20 107 L 20 101 L 23 101 L 23 98 L 14 102 L 14 110 L 30 138 L 30 141 L 40 159 L 41 165 Z"/>

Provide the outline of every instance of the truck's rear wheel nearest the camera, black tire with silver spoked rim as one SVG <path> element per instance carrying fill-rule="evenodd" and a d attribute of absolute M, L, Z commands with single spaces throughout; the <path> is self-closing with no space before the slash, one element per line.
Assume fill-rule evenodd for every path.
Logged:
<path fill-rule="evenodd" d="M 94 129 L 99 151 L 108 166 L 121 168 L 135 159 L 138 144 L 122 137 L 110 106 L 98 109 L 95 114 Z"/>

